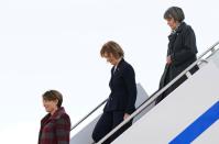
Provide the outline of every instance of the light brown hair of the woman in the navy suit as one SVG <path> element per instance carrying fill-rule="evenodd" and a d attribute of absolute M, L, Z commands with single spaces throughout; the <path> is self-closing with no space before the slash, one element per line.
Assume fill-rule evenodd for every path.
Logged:
<path fill-rule="evenodd" d="M 124 52 L 121 48 L 121 46 L 113 42 L 113 41 L 109 41 L 106 44 L 102 45 L 102 48 L 100 51 L 100 55 L 103 57 L 105 54 L 112 54 L 116 58 L 120 58 L 124 56 Z"/>

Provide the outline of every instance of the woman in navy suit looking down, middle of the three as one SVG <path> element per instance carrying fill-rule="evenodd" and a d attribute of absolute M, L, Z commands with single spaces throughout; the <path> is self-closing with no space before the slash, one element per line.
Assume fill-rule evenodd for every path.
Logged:
<path fill-rule="evenodd" d="M 136 99 L 134 69 L 124 60 L 124 53 L 120 45 L 112 41 L 107 42 L 102 46 L 100 55 L 112 65 L 111 79 L 109 82 L 111 92 L 103 109 L 103 114 L 97 122 L 92 132 L 95 142 L 101 140 L 135 110 L 134 103 Z M 103 144 L 111 143 L 117 136 L 131 126 L 131 123 L 132 122 L 129 122 L 122 126 Z"/>

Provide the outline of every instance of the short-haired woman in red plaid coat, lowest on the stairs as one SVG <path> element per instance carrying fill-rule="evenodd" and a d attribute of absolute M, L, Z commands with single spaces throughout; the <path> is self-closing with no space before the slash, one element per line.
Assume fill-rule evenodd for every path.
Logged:
<path fill-rule="evenodd" d="M 43 95 L 46 114 L 41 120 L 39 144 L 69 144 L 70 119 L 62 107 L 63 96 L 56 90 Z"/>

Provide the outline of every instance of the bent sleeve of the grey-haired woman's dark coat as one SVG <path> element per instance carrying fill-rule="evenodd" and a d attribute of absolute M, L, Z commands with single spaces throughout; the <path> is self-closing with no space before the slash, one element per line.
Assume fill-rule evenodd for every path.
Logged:
<path fill-rule="evenodd" d="M 179 51 L 171 55 L 173 65 L 180 65 L 197 53 L 196 36 L 190 26 L 187 27 L 183 35 L 183 46 Z"/>

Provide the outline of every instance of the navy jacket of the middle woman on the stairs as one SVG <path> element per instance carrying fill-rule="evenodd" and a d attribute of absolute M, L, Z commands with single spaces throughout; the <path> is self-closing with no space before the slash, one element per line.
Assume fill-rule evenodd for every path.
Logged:
<path fill-rule="evenodd" d="M 105 111 L 124 111 L 131 114 L 135 110 L 136 84 L 133 67 L 123 58 L 119 63 L 116 71 L 111 69 L 109 82 L 111 93 L 105 107 Z"/>

